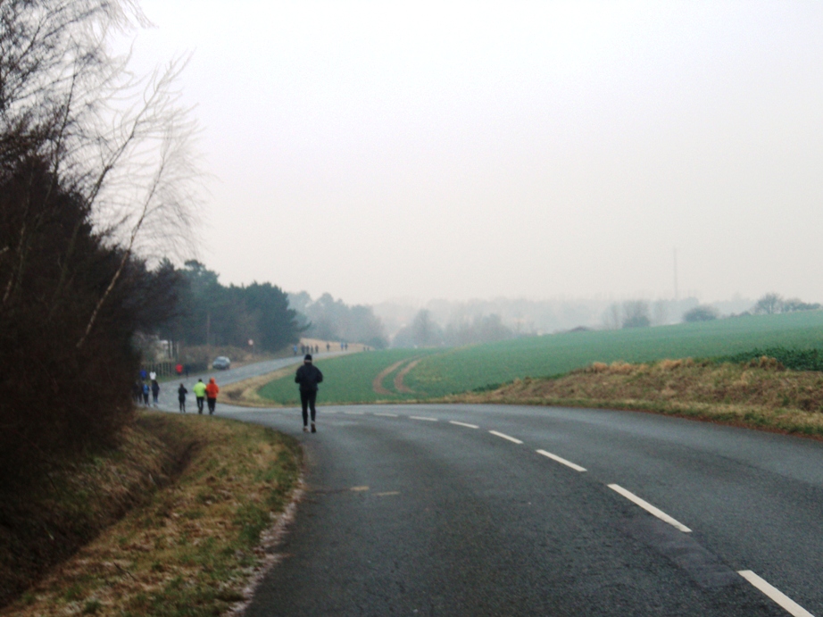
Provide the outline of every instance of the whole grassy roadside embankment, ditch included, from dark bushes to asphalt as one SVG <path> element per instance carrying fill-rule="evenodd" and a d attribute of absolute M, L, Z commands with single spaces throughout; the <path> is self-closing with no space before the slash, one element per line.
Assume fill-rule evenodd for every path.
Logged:
<path fill-rule="evenodd" d="M 0 614 L 223 613 L 265 561 L 261 533 L 299 469 L 296 442 L 274 431 L 140 413 L 119 449 L 4 504 L 13 523 L 0 554 L 4 587 L 37 579 L 44 555 L 65 559 L 54 543 L 74 551 L 91 541 Z"/>

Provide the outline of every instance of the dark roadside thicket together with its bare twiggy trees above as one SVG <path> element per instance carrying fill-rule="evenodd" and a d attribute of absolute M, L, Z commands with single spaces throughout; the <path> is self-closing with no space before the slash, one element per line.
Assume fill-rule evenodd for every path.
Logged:
<path fill-rule="evenodd" d="M 116 439 L 130 339 L 175 304 L 158 257 L 187 236 L 195 127 L 180 63 L 141 81 L 112 54 L 112 33 L 142 23 L 129 0 L 0 3 L 4 486 Z"/>

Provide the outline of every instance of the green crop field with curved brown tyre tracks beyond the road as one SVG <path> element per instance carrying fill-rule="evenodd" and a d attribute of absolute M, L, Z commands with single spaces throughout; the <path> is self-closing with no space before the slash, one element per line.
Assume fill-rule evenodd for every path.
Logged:
<path fill-rule="evenodd" d="M 353 354 L 318 364 L 326 375 L 320 399 L 323 403 L 422 399 L 515 378 L 558 375 L 593 362 L 705 358 L 774 346 L 823 350 L 823 311 L 752 315 L 658 328 L 568 332 L 448 349 Z M 414 358 L 420 358 L 420 363 L 403 379 L 412 394 L 381 396 L 372 390 L 372 379 L 380 371 Z M 394 392 L 393 375 L 403 365 L 383 379 L 384 388 Z M 298 399 L 293 381 L 274 381 L 262 388 L 261 395 L 281 404 L 295 404 Z"/>

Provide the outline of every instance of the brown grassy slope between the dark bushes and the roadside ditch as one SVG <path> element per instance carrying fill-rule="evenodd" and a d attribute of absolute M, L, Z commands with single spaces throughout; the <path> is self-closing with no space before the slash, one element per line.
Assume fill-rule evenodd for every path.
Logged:
<path fill-rule="evenodd" d="M 0 496 L 0 605 L 174 479 L 191 442 L 144 418 L 116 449 L 55 461 L 45 478 Z"/>

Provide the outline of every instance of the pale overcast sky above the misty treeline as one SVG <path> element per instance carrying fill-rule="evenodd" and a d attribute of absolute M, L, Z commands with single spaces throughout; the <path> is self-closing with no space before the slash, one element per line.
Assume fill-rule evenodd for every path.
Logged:
<path fill-rule="evenodd" d="M 224 283 L 823 300 L 819 1 L 142 6 Z"/>

